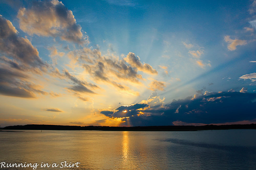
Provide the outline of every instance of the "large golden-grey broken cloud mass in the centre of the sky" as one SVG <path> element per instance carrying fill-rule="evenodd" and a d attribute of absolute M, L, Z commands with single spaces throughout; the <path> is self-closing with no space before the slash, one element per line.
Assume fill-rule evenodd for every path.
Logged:
<path fill-rule="evenodd" d="M 141 81 L 145 79 L 138 74 L 137 66 L 143 68 L 146 66 L 145 68 L 151 68 L 151 72 L 155 71 L 149 64 L 143 65 L 140 61 L 138 65 L 131 65 L 124 58 L 119 59 L 119 57 L 111 55 L 103 56 L 99 49 L 84 47 L 70 51 L 67 56 L 71 59 L 72 64 L 82 66 L 84 72 L 89 74 L 95 82 L 110 84 L 116 87 L 116 90 L 135 96 L 138 96 L 139 93 L 131 90 L 126 84 L 142 85 Z M 148 73 L 148 69 L 145 72 Z"/>

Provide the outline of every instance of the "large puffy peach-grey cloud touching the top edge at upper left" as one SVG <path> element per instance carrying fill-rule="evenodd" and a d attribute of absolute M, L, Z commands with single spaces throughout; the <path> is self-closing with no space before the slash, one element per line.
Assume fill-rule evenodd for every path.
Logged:
<path fill-rule="evenodd" d="M 34 1 L 31 8 L 20 8 L 17 18 L 20 29 L 29 35 L 60 36 L 70 42 L 89 43 L 72 11 L 57 0 Z"/>

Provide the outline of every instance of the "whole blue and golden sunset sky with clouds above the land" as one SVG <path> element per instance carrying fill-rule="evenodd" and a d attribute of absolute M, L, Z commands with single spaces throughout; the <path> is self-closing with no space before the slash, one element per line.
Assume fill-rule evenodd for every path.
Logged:
<path fill-rule="evenodd" d="M 0 125 L 256 123 L 255 30 L 255 0 L 0 0 Z"/>

